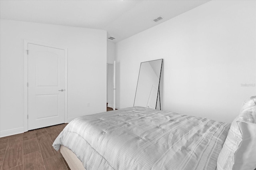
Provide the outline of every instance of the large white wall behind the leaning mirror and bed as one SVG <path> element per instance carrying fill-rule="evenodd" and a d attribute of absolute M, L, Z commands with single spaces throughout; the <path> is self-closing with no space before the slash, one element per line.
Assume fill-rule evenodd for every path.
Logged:
<path fill-rule="evenodd" d="M 163 110 L 232 122 L 256 94 L 241 87 L 256 82 L 256 1 L 210 1 L 116 43 L 116 105 L 132 107 L 140 62 L 161 58 Z"/>

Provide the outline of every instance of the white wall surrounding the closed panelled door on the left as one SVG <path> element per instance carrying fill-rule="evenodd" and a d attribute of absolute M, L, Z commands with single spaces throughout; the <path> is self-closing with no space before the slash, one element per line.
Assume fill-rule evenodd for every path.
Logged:
<path fill-rule="evenodd" d="M 106 31 L 0 20 L 2 134 L 14 134 L 26 126 L 24 39 L 68 48 L 68 121 L 106 111 Z"/>

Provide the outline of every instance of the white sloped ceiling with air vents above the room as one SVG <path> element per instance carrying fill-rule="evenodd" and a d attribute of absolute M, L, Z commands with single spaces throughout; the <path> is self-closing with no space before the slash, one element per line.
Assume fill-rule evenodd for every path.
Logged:
<path fill-rule="evenodd" d="M 119 42 L 209 0 L 0 0 L 0 18 L 106 30 Z M 155 18 L 163 19 L 154 22 Z"/>

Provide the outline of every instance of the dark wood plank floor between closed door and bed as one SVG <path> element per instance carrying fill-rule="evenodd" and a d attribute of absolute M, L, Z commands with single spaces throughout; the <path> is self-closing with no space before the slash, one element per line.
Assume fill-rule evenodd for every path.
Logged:
<path fill-rule="evenodd" d="M 70 170 L 52 143 L 67 124 L 0 138 L 0 170 Z"/>

